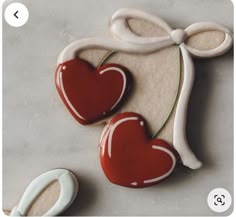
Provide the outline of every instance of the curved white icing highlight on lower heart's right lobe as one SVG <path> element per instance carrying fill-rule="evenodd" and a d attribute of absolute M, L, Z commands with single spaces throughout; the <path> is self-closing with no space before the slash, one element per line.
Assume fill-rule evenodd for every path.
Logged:
<path fill-rule="evenodd" d="M 159 176 L 159 177 L 157 177 L 157 178 L 144 180 L 144 182 L 143 182 L 144 184 L 153 183 L 153 182 L 158 182 L 158 181 L 160 181 L 160 180 L 162 180 L 162 179 L 168 177 L 168 176 L 172 173 L 172 171 L 174 170 L 175 164 L 176 164 L 175 155 L 174 155 L 169 149 L 164 148 L 164 147 L 160 147 L 160 146 L 156 146 L 156 145 L 153 145 L 152 148 L 153 148 L 153 149 L 160 150 L 160 151 L 163 151 L 163 152 L 165 152 L 166 154 L 170 155 L 170 157 L 171 157 L 171 159 L 172 159 L 172 161 L 173 161 L 173 164 L 172 164 L 172 167 L 170 168 L 170 170 L 169 170 L 167 173 L 165 173 L 164 175 Z"/>

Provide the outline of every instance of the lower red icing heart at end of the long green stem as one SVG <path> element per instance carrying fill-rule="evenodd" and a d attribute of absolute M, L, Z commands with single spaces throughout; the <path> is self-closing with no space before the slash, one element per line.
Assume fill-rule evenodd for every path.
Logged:
<path fill-rule="evenodd" d="M 116 115 L 100 140 L 100 161 L 107 178 L 126 187 L 146 187 L 169 176 L 175 168 L 175 150 L 160 139 L 150 139 L 137 113 Z"/>

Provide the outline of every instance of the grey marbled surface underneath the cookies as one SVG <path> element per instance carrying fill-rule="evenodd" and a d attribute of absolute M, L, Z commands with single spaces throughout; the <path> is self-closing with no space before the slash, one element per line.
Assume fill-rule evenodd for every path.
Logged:
<path fill-rule="evenodd" d="M 107 181 L 97 148 L 102 127 L 83 127 L 74 121 L 57 95 L 53 76 L 59 52 L 76 39 L 104 35 L 109 18 L 119 8 L 140 8 L 179 28 L 215 21 L 233 30 L 232 3 L 19 2 L 29 9 L 28 23 L 15 29 L 3 21 L 3 208 L 16 205 L 33 178 L 63 167 L 73 170 L 81 185 L 78 199 L 65 215 L 216 215 L 207 206 L 208 193 L 215 187 L 233 192 L 232 50 L 195 61 L 187 132 L 203 168 L 191 171 L 179 166 L 168 180 L 140 190 Z"/>

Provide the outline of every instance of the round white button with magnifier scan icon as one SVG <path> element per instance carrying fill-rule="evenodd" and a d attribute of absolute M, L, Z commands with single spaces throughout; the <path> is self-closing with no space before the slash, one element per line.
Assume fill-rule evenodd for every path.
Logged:
<path fill-rule="evenodd" d="M 230 193 L 224 188 L 215 188 L 207 197 L 208 206 L 214 212 L 225 212 L 232 203 Z"/>

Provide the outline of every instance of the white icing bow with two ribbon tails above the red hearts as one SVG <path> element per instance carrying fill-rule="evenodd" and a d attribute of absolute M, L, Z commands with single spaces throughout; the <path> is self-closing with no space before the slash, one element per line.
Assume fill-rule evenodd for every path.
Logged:
<path fill-rule="evenodd" d="M 163 28 L 168 36 L 164 37 L 142 37 L 130 29 L 127 19 L 138 18 L 143 19 Z M 174 121 L 174 138 L 173 145 L 179 152 L 183 163 L 192 169 L 201 166 L 201 162 L 191 151 L 186 141 L 185 125 L 187 106 L 189 101 L 192 84 L 194 81 L 194 66 L 192 64 L 191 55 L 197 57 L 214 57 L 222 55 L 233 44 L 233 34 L 225 27 L 210 22 L 199 22 L 190 25 L 185 30 L 172 30 L 171 27 L 161 18 L 150 15 L 140 10 L 124 8 L 114 13 L 110 21 L 110 30 L 115 39 L 110 38 L 89 38 L 78 40 L 67 46 L 58 57 L 58 64 L 76 58 L 77 52 L 89 48 L 105 48 L 109 50 L 117 50 L 126 53 L 152 53 L 170 45 L 180 45 L 184 64 L 184 81 L 180 91 L 177 103 L 176 117 Z M 221 31 L 225 33 L 223 43 L 214 49 L 198 50 L 186 45 L 184 41 L 194 34 L 204 31 Z M 179 128 L 178 128 L 179 127 Z"/>

